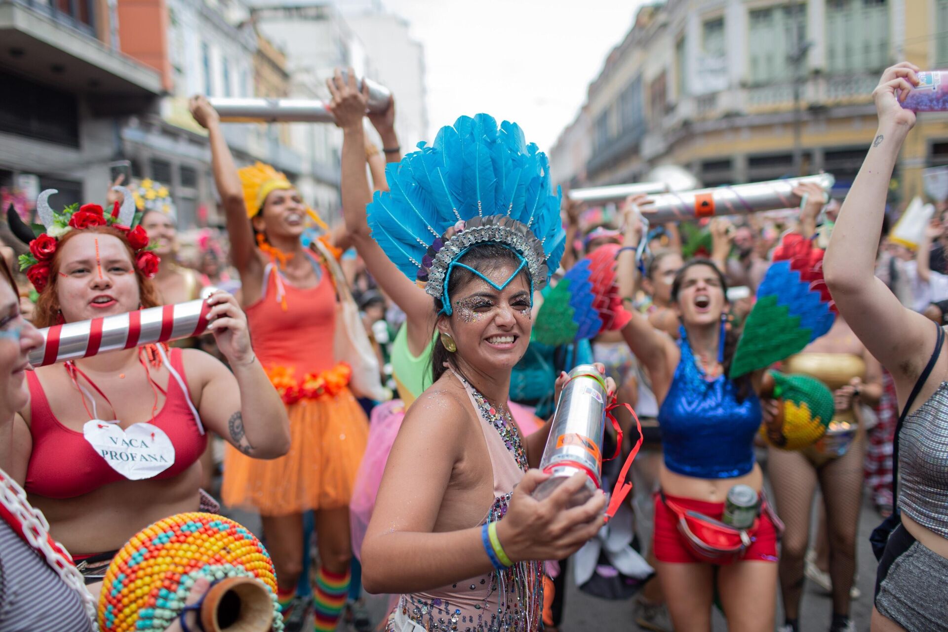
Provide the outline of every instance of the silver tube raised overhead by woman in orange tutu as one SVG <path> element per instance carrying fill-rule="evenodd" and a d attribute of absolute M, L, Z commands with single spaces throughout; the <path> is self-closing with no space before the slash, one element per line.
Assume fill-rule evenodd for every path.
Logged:
<path fill-rule="evenodd" d="M 371 79 L 362 80 L 369 86 L 369 112 L 384 112 L 392 93 L 384 85 Z M 362 82 L 359 81 L 361 88 Z M 332 123 L 333 115 L 319 99 L 209 99 L 221 120 L 226 123 L 302 122 Z"/>

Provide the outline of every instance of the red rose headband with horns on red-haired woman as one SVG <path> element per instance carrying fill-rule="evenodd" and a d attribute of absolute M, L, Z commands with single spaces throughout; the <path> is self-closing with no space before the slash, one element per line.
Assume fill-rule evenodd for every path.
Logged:
<path fill-rule="evenodd" d="M 114 187 L 124 196 L 119 207 L 118 202 L 108 215 L 98 204 L 78 204 L 64 208 L 57 213 L 49 208 L 46 199 L 54 189 L 40 193 L 36 200 L 36 211 L 43 224 L 35 224 L 30 228 L 23 224 L 19 215 L 8 212 L 10 229 L 23 242 L 29 244 L 29 253 L 20 255 L 20 270 L 27 273 L 27 279 L 33 284 L 37 292 L 43 292 L 49 283 L 52 274 L 52 258 L 59 247 L 59 240 L 72 230 L 82 230 L 94 226 L 109 226 L 124 234 L 125 240 L 135 252 L 135 264 L 141 273 L 148 279 L 155 277 L 158 271 L 158 256 L 152 252 L 154 246 L 148 244 L 148 234 L 141 226 L 133 226 L 135 222 L 135 200 L 132 193 L 124 187 Z M 35 238 L 28 239 L 35 235 Z"/>

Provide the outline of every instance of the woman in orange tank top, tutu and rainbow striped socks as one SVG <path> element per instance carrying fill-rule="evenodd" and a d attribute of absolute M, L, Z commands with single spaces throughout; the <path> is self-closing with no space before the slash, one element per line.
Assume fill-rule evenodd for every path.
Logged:
<path fill-rule="evenodd" d="M 262 515 L 284 616 L 308 606 L 294 597 L 303 559 L 302 513 L 316 511 L 316 629 L 335 629 L 349 585 L 349 499 L 368 437 L 349 382 L 374 377 L 377 384 L 378 370 L 367 375 L 372 370 L 354 372 L 338 362 L 341 352 L 358 348 L 363 341 L 356 337 L 365 331 L 345 327 L 349 321 L 341 319 L 352 300 L 338 274 L 341 250 L 325 238 L 313 244 L 315 250 L 301 243 L 307 216 L 325 227 L 319 216 L 272 167 L 257 163 L 238 172 L 207 99 L 191 99 L 191 114 L 210 132 L 214 180 L 227 212 L 254 351 L 283 396 L 292 436 L 289 453 L 265 463 L 228 450 L 222 495 L 226 504 Z M 335 335 L 337 320 L 347 337 Z"/>

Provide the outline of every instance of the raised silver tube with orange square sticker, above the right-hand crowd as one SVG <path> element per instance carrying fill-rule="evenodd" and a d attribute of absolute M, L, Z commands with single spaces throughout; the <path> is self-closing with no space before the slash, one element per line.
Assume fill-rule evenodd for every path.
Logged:
<path fill-rule="evenodd" d="M 715 215 L 745 215 L 762 210 L 795 208 L 800 205 L 800 197 L 792 191 L 802 182 L 813 182 L 829 191 L 835 179 L 830 173 L 820 173 L 733 187 L 660 193 L 651 196 L 653 212 L 646 213 L 646 217 L 654 225 Z"/>

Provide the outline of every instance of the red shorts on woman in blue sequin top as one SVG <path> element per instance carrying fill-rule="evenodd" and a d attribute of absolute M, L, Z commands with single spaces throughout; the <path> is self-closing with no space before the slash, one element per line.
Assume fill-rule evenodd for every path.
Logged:
<path fill-rule="evenodd" d="M 694 498 L 680 498 L 665 495 L 683 509 L 698 512 L 710 518 L 720 520 L 724 514 L 723 502 L 706 502 Z M 776 528 L 770 516 L 764 512 L 760 524 L 751 538 L 751 546 L 744 551 L 741 560 L 776 562 Z M 659 562 L 673 564 L 705 564 L 706 562 L 691 552 L 691 548 L 678 531 L 678 516 L 655 494 L 655 529 L 652 536 L 652 551 Z"/>

